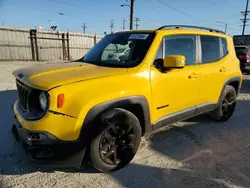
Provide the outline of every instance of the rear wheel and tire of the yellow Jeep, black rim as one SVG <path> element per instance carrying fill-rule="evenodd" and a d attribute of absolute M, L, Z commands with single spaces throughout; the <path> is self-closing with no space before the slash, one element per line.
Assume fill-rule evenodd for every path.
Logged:
<path fill-rule="evenodd" d="M 236 106 L 236 91 L 234 87 L 227 85 L 223 91 L 222 99 L 218 107 L 210 113 L 210 117 L 216 121 L 227 121 L 234 113 Z"/>

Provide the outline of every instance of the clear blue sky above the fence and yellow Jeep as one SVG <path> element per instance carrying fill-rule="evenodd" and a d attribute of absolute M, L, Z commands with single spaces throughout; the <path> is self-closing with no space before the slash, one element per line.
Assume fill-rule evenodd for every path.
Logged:
<path fill-rule="evenodd" d="M 103 34 L 121 30 L 123 19 L 129 29 L 130 0 L 0 0 L 0 25 Z M 162 25 L 185 24 L 225 30 L 241 34 L 246 0 L 135 0 L 134 16 L 140 19 L 139 29 Z M 249 17 L 250 18 L 250 17 Z M 219 23 L 216 23 L 218 22 Z M 221 23 L 224 22 L 224 23 Z M 250 26 L 246 27 L 246 34 Z"/>

